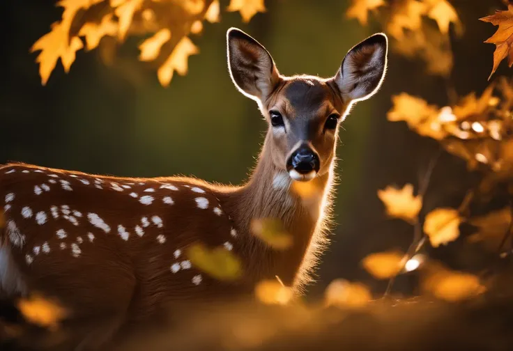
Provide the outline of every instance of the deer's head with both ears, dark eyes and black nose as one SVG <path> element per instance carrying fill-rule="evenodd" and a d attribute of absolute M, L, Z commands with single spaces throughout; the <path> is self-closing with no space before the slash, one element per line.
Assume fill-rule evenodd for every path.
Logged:
<path fill-rule="evenodd" d="M 385 34 L 355 45 L 335 76 L 327 79 L 280 75 L 269 52 L 239 29 L 229 29 L 227 42 L 231 79 L 259 104 L 269 125 L 266 143 L 277 169 L 298 181 L 328 173 L 340 122 L 352 104 L 374 95 L 385 77 Z"/>

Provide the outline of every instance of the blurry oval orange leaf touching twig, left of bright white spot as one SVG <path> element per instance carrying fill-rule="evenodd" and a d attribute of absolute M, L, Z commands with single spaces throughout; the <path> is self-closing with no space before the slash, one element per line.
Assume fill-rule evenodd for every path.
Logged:
<path fill-rule="evenodd" d="M 365 270 L 376 279 L 396 276 L 403 269 L 404 263 L 404 254 L 397 251 L 371 253 L 362 260 Z"/>

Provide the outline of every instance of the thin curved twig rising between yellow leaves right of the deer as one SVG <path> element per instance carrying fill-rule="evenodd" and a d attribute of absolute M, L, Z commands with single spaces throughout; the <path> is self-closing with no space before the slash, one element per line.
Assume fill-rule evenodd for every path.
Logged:
<path fill-rule="evenodd" d="M 440 158 L 440 155 L 442 154 L 442 149 L 438 149 L 438 153 L 434 155 L 434 157 L 431 158 L 431 161 L 429 161 L 429 164 L 427 165 L 426 173 L 424 174 L 424 177 L 420 181 L 419 184 L 419 191 L 418 194 L 424 198 L 424 195 L 427 192 L 427 188 L 429 187 L 429 182 L 431 181 L 431 175 L 433 174 L 434 168 L 436 166 L 436 163 L 438 162 L 438 159 Z M 410 244 L 410 247 L 408 247 L 408 250 L 404 254 L 403 259 L 401 260 L 401 271 L 404 270 L 404 266 L 410 260 L 415 253 L 417 253 L 422 247 L 424 246 L 424 243 L 426 242 L 426 237 L 422 236 L 422 227 L 420 226 L 420 221 L 417 216 L 415 219 L 415 225 L 413 227 L 413 240 Z M 392 276 L 390 280 L 388 281 L 388 286 L 385 290 L 385 294 L 383 297 L 387 297 L 390 295 L 390 292 L 392 291 L 392 287 L 394 286 L 395 279 L 397 277 L 397 274 L 395 276 Z"/>

